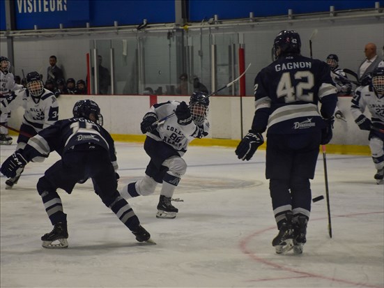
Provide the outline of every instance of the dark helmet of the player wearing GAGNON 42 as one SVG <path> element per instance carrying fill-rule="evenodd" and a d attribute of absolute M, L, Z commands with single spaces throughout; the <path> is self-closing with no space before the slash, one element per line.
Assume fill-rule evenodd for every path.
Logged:
<path fill-rule="evenodd" d="M 280 31 L 273 42 L 273 49 L 276 58 L 284 54 L 300 54 L 301 40 L 299 33 L 294 30 Z"/>

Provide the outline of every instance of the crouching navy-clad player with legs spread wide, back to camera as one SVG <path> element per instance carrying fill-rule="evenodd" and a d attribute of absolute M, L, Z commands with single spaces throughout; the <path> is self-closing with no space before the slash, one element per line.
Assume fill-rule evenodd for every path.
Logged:
<path fill-rule="evenodd" d="M 56 192 L 61 188 L 70 194 L 76 183 L 91 178 L 96 194 L 136 236 L 139 242 L 152 242 L 141 227 L 128 202 L 117 190 L 118 168 L 114 140 L 102 128 L 100 108 L 92 100 L 79 100 L 73 107 L 73 118 L 57 121 L 29 139 L 24 149 L 17 150 L 1 165 L 1 173 L 15 177 L 17 171 L 36 156 L 45 157 L 56 151 L 61 156 L 38 180 L 37 190 L 45 211 L 54 225 L 52 232 L 41 237 L 45 248 L 67 248 L 67 215 Z M 59 243 L 56 243 L 59 241 Z"/>

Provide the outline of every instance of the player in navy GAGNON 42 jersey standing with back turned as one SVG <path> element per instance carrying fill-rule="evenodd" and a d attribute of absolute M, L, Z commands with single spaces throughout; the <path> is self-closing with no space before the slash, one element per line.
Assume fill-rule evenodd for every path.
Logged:
<path fill-rule="evenodd" d="M 330 67 L 300 55 L 295 31 L 281 31 L 274 42 L 277 60 L 254 80 L 256 112 L 252 128 L 236 155 L 250 160 L 267 130 L 266 178 L 279 233 L 272 240 L 278 254 L 301 254 L 311 211 L 311 187 L 320 144 L 332 138 L 337 89 Z M 318 112 L 318 102 L 321 110 Z"/>

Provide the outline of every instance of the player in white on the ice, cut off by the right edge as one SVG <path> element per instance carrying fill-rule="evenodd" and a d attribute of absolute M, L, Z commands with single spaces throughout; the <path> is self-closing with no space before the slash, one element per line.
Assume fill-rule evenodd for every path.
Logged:
<path fill-rule="evenodd" d="M 364 110 L 371 113 L 369 120 Z M 352 116 L 361 130 L 369 131 L 369 147 L 377 172 L 376 183 L 384 183 L 384 68 L 375 68 L 370 85 L 359 86 L 351 103 Z"/>

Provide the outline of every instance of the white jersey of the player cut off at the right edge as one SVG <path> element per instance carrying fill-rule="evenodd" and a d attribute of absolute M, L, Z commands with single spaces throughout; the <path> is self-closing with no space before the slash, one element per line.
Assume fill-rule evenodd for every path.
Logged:
<path fill-rule="evenodd" d="M 353 119 L 358 119 L 366 107 L 371 113 L 372 124 L 379 128 L 384 127 L 384 96 L 378 98 L 371 86 L 360 86 L 356 89 L 351 103 Z"/>

